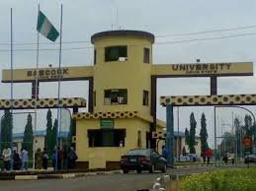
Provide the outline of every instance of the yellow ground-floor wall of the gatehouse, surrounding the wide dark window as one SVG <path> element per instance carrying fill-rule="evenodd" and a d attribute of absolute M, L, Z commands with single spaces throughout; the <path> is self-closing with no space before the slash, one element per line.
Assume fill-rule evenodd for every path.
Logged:
<path fill-rule="evenodd" d="M 120 161 L 128 150 L 137 148 L 137 131 L 141 131 L 141 148 L 146 148 L 146 131 L 149 123 L 138 118 L 119 119 L 114 121 L 115 129 L 127 129 L 125 147 L 89 148 L 87 130 L 100 129 L 100 119 L 77 120 L 76 152 L 79 161 L 89 161 L 89 168 L 105 168 L 106 161 Z"/>

